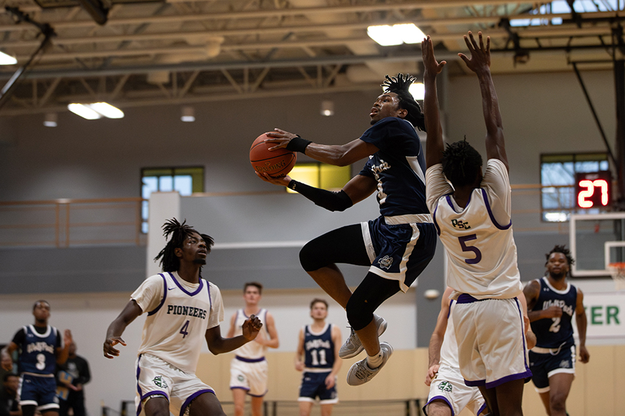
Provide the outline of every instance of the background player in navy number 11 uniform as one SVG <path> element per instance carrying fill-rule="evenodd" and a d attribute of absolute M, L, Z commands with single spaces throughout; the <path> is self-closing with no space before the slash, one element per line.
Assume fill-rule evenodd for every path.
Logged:
<path fill-rule="evenodd" d="M 341 330 L 326 323 L 328 302 L 313 299 L 310 318 L 313 324 L 299 331 L 295 353 L 295 370 L 303 372 L 299 386 L 299 416 L 310 416 L 313 402 L 319 397 L 322 416 L 330 416 L 338 403 L 336 374 L 341 368 L 338 359 Z M 303 358 L 303 359 L 302 359 Z"/>

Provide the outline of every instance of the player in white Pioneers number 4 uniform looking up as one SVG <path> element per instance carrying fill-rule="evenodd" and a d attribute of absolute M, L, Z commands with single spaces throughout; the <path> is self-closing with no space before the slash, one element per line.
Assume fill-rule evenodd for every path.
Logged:
<path fill-rule="evenodd" d="M 215 391 L 196 375 L 201 343 L 213 354 L 230 352 L 256 338 L 263 324 L 254 315 L 242 324 L 242 335 L 222 338 L 224 306 L 219 288 L 201 278 L 201 267 L 213 239 L 178 220 L 163 225 L 165 238 L 156 257 L 163 273 L 148 277 L 106 332 L 104 356 L 114 358 L 126 345 L 124 329 L 146 312 L 137 358 L 137 415 L 225 416 Z"/>

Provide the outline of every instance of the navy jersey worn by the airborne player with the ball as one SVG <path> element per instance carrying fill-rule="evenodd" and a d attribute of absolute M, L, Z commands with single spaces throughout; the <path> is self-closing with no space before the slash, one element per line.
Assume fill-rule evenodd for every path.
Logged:
<path fill-rule="evenodd" d="M 360 175 L 378 181 L 380 214 L 429 214 L 425 202 L 425 159 L 412 124 L 386 117 L 367 129 L 360 140 L 379 149 L 369 156 Z"/>

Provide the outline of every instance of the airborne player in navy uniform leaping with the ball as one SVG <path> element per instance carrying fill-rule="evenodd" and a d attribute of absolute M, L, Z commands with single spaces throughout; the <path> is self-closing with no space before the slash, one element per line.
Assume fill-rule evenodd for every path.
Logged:
<path fill-rule="evenodd" d="M 330 211 L 344 211 L 377 192 L 381 216 L 319 236 L 299 253 L 308 275 L 347 310 L 352 331 L 340 357 L 367 352 L 367 358 L 349 369 L 349 385 L 366 383 L 387 362 L 393 349 L 378 339 L 387 322 L 374 311 L 395 293 L 408 291 L 436 247 L 436 231 L 425 203 L 424 155 L 415 130 L 425 130 L 423 114 L 408 92 L 415 78 L 401 73 L 386 78 L 385 92 L 369 114 L 372 127 L 356 140 L 331 146 L 280 129 L 267 133 L 274 149 L 299 151 L 327 164 L 347 166 L 368 157 L 363 170 L 340 192 L 309 187 L 288 175 L 272 178 L 257 173 L 266 182 L 289 187 Z M 353 293 L 336 263 L 369 267 Z"/>

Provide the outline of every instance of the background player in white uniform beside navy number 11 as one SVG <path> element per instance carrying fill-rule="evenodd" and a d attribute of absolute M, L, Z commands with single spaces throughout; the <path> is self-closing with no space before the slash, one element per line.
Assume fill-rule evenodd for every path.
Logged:
<path fill-rule="evenodd" d="M 262 284 L 257 281 L 246 283 L 243 286 L 245 308 L 236 311 L 230 320 L 228 336 L 240 335 L 243 322 L 252 314 L 263 323 L 256 340 L 237 349 L 230 364 L 230 389 L 235 404 L 235 416 L 243 416 L 247 395 L 251 397 L 252 416 L 263 414 L 263 397 L 267 394 L 269 381 L 265 353 L 267 348 L 280 346 L 274 317 L 267 309 L 258 306 L 262 295 Z"/>

